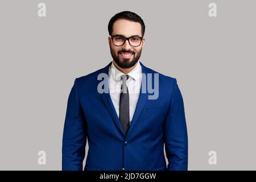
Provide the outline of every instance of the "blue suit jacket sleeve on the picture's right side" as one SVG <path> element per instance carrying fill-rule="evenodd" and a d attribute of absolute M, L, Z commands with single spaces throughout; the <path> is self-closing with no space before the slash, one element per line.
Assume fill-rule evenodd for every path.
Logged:
<path fill-rule="evenodd" d="M 168 171 L 188 170 L 188 135 L 183 98 L 174 78 L 170 107 L 164 121 L 164 143 Z"/>

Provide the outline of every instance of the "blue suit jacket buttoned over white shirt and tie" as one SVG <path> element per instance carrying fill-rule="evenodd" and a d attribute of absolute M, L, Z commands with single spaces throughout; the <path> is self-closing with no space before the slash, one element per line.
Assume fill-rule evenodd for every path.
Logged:
<path fill-rule="evenodd" d="M 187 170 L 187 126 L 176 78 L 159 73 L 159 96 L 156 100 L 148 100 L 150 93 L 141 90 L 133 120 L 125 135 L 110 94 L 97 91 L 102 81 L 97 77 L 100 73 L 108 74 L 110 64 L 75 79 L 65 115 L 62 169 L 83 169 L 88 138 L 84 170 Z M 141 66 L 142 73 L 158 73 L 142 63 Z M 142 84 L 144 82 L 143 79 Z"/>

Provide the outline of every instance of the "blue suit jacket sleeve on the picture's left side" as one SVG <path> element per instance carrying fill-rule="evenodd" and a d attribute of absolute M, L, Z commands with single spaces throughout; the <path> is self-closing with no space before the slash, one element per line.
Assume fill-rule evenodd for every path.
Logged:
<path fill-rule="evenodd" d="M 77 94 L 77 78 L 68 97 L 62 144 L 62 169 L 81 171 L 85 157 L 86 122 Z"/>

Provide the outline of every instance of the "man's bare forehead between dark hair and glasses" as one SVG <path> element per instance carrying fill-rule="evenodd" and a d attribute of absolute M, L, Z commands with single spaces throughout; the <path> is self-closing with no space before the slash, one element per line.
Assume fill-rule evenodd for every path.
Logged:
<path fill-rule="evenodd" d="M 130 37 L 133 35 L 142 36 L 141 24 L 138 22 L 131 22 L 125 19 L 119 19 L 113 24 L 112 35 L 123 35 Z"/>

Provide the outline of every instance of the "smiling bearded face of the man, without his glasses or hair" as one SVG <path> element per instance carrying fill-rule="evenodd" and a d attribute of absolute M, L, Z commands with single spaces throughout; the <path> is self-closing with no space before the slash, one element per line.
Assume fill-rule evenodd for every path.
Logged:
<path fill-rule="evenodd" d="M 141 24 L 131 22 L 126 19 L 119 19 L 113 24 L 112 36 L 122 35 L 126 38 L 138 35 L 142 36 Z M 141 57 L 141 51 L 144 46 L 144 38 L 141 40 L 141 45 L 138 47 L 131 46 L 128 40 L 122 46 L 115 46 L 112 39 L 109 37 L 110 52 L 115 63 L 121 68 L 133 67 Z"/>

